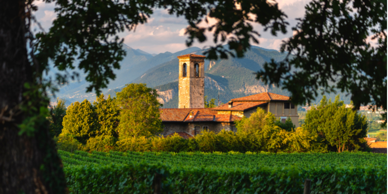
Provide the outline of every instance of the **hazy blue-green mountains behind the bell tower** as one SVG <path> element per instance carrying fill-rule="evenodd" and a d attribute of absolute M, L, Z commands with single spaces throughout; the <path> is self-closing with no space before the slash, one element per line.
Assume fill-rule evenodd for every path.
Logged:
<path fill-rule="evenodd" d="M 123 45 L 127 55 L 120 62 L 120 69 L 115 69 L 116 78 L 110 81 L 108 88 L 103 90 L 107 95 L 115 96 L 115 92 L 128 83 L 146 83 L 148 87 L 158 90 L 158 100 L 163 108 L 178 108 L 178 58 L 184 54 L 204 55 L 206 49 L 191 47 L 175 53 L 164 52 L 149 54 L 140 49 L 132 49 Z M 251 46 L 243 58 L 205 60 L 205 96 L 208 100 L 216 99 L 216 103 L 226 103 L 232 98 L 244 97 L 261 92 L 273 92 L 289 96 L 289 92 L 265 85 L 256 79 L 254 74 L 265 62 L 271 59 L 280 61 L 287 54 L 277 50 L 263 49 Z M 54 75 L 55 70 L 49 74 Z M 75 101 L 88 99 L 94 101 L 95 93 L 86 93 L 88 82 L 84 80 L 85 74 L 80 73 L 79 81 L 71 81 L 62 86 L 56 97 L 65 98 L 66 105 Z M 320 99 L 317 99 L 320 100 Z M 55 101 L 55 99 L 52 99 Z M 347 101 L 347 100 L 346 100 Z M 346 103 L 346 102 L 345 102 Z"/>

